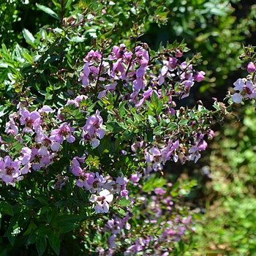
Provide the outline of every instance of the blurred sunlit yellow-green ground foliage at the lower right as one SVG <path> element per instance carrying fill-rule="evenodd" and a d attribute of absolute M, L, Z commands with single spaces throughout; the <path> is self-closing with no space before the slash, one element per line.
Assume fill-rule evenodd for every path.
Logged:
<path fill-rule="evenodd" d="M 226 120 L 211 147 L 205 223 L 196 226 L 194 236 L 201 254 L 255 252 L 255 113 L 249 104 L 239 111 L 241 122 Z"/>

